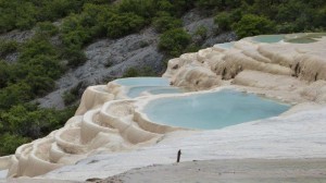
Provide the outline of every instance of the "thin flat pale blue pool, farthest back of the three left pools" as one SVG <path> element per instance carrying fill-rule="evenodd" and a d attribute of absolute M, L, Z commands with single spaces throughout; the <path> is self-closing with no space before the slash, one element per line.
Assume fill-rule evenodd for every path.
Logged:
<path fill-rule="evenodd" d="M 170 81 L 164 77 L 126 77 L 114 82 L 123 86 L 170 86 Z"/>

